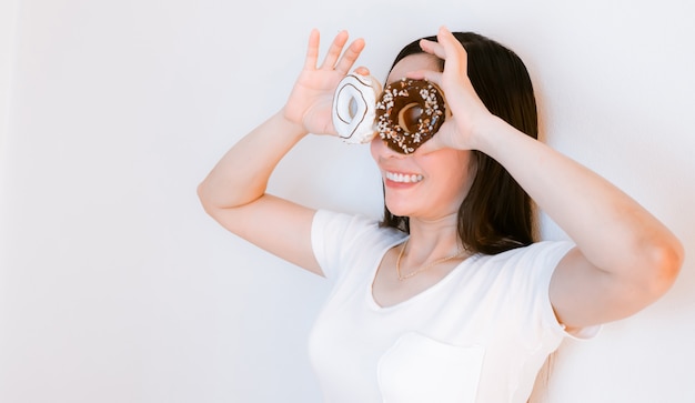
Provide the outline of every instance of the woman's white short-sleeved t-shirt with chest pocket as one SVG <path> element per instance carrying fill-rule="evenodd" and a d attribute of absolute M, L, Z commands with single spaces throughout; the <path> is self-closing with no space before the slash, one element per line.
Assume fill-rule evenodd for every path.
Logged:
<path fill-rule="evenodd" d="M 568 336 L 548 284 L 570 242 L 477 254 L 424 292 L 382 308 L 372 282 L 407 235 L 364 216 L 316 212 L 313 250 L 333 291 L 310 337 L 325 402 L 526 402 Z"/>

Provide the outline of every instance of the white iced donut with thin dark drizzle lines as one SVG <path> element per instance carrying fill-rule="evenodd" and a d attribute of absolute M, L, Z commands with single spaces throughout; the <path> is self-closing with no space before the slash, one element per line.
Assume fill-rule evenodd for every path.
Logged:
<path fill-rule="evenodd" d="M 376 98 L 381 83 L 371 75 L 350 73 L 333 97 L 333 127 L 346 143 L 366 143 L 376 134 Z"/>

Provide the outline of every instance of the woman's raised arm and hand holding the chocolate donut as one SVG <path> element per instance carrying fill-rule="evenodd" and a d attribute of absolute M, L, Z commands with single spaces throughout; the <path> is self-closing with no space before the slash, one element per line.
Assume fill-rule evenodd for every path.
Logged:
<path fill-rule="evenodd" d="M 681 269 L 683 246 L 637 202 L 606 180 L 492 115 L 466 75 L 466 53 L 442 29 L 423 49 L 445 59 L 440 82 L 453 119 L 423 145 L 480 150 L 500 162 L 576 243 L 556 268 L 550 298 L 572 328 L 618 320 L 664 294 Z"/>

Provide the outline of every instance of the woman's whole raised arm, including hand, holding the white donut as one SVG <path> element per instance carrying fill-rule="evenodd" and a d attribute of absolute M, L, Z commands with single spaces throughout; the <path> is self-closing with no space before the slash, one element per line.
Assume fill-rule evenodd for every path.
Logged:
<path fill-rule="evenodd" d="M 313 30 L 306 61 L 285 107 L 229 150 L 198 188 L 205 211 L 231 232 L 309 271 L 322 274 L 311 249 L 314 211 L 265 193 L 280 160 L 308 133 L 333 134 L 335 87 L 364 48 L 340 32 L 321 66 Z M 343 53 L 341 56 L 341 53 Z"/>

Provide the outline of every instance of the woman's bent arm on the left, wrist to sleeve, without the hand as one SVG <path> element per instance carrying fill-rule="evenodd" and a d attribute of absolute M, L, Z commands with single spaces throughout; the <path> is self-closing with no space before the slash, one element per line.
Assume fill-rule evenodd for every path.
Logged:
<path fill-rule="evenodd" d="M 309 241 L 313 211 L 265 193 L 276 164 L 305 134 L 282 112 L 274 114 L 224 154 L 198 194 L 225 229 L 320 274 Z"/>

